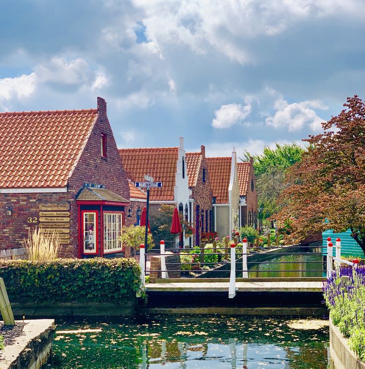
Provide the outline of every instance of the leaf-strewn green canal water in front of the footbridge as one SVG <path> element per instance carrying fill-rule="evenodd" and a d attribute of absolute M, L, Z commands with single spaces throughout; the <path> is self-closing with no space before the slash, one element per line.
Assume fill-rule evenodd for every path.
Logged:
<path fill-rule="evenodd" d="M 43 369 L 325 369 L 328 327 L 295 329 L 291 318 L 147 316 L 58 322 L 53 364 Z"/>

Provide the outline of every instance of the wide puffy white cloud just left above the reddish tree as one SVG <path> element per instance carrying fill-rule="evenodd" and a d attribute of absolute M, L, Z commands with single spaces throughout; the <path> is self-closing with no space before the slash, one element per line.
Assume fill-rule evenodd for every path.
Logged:
<path fill-rule="evenodd" d="M 324 120 L 311 107 L 326 108 L 316 100 L 289 104 L 282 97 L 275 101 L 274 107 L 277 111 L 266 118 L 266 125 L 276 129 L 288 128 L 289 132 L 301 131 L 306 127 L 309 127 L 312 132 L 320 131 Z"/>

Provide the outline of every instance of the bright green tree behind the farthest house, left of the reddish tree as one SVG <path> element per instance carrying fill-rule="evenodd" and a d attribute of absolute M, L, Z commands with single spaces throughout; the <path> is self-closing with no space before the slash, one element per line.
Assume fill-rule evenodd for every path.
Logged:
<path fill-rule="evenodd" d="M 276 143 L 275 148 L 264 147 L 262 154 L 250 155 L 248 151 L 243 154 L 243 161 L 253 158 L 253 169 L 256 177 L 258 206 L 262 207 L 259 214 L 261 219 L 267 219 L 280 211 L 277 204 L 280 193 L 288 186 L 285 183 L 285 172 L 293 164 L 299 162 L 305 149 L 297 143 Z"/>

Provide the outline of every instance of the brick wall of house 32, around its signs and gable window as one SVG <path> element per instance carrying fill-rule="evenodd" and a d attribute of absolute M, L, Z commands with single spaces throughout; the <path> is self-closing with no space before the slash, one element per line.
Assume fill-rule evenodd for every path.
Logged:
<path fill-rule="evenodd" d="M 64 193 L 2 193 L 0 194 L 0 249 L 19 247 L 28 234 L 28 217 L 39 216 L 42 202 L 70 203 L 70 243 L 63 244 L 61 257 L 77 257 L 78 222 L 75 196 L 85 182 L 105 185 L 107 189 L 129 199 L 129 186 L 122 167 L 112 129 L 107 117 L 104 99 L 98 97 L 99 117 L 81 153 L 79 161 L 68 180 Z M 107 158 L 101 157 L 101 134 L 107 136 Z M 12 208 L 12 215 L 6 215 L 6 205 Z M 34 224 L 35 226 L 36 224 Z"/>

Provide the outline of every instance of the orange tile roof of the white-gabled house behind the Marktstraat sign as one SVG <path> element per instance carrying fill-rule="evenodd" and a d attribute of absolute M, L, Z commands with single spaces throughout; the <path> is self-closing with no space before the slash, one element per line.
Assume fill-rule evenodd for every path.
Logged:
<path fill-rule="evenodd" d="M 162 182 L 162 188 L 151 188 L 150 200 L 174 200 L 178 147 L 119 149 L 119 154 L 127 178 L 132 182 L 144 182 L 145 174 L 152 176 L 155 182 Z"/>

